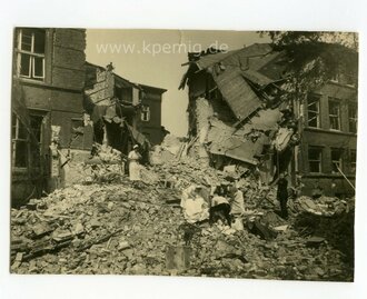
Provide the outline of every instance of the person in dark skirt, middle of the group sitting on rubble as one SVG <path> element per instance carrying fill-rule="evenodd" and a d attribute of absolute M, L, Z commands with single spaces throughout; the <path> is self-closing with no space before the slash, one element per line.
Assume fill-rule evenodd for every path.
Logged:
<path fill-rule="evenodd" d="M 217 187 L 214 191 L 211 207 L 209 209 L 209 223 L 214 225 L 217 221 L 221 220 L 224 225 L 227 222 L 227 225 L 230 227 L 230 205 L 228 202 L 228 199 L 224 197 L 224 193 L 220 190 L 221 187 Z"/>

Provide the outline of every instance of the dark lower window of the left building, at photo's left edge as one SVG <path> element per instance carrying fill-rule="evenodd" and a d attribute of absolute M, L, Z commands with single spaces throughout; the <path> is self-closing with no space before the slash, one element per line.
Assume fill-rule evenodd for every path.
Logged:
<path fill-rule="evenodd" d="M 13 113 L 11 118 L 12 166 L 27 168 L 28 165 L 28 131 Z"/>

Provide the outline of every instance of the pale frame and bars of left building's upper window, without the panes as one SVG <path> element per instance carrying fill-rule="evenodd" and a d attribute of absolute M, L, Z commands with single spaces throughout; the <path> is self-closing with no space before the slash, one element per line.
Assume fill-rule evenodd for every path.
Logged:
<path fill-rule="evenodd" d="M 31 49 L 24 50 L 22 49 L 22 37 L 23 30 L 29 29 L 31 30 Z M 44 49 L 42 53 L 38 53 L 34 51 L 34 40 L 36 40 L 36 31 L 42 31 L 44 34 Z M 28 79 L 28 80 L 36 80 L 43 82 L 46 80 L 46 48 L 47 48 L 47 31 L 46 29 L 38 29 L 38 28 L 20 28 L 17 31 L 17 76 L 19 78 Z M 21 61 L 23 56 L 29 56 L 29 71 L 28 76 L 21 73 Z M 36 74 L 36 59 L 42 59 L 42 76 Z"/>

